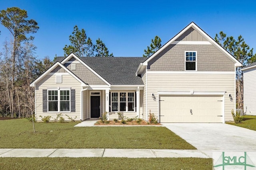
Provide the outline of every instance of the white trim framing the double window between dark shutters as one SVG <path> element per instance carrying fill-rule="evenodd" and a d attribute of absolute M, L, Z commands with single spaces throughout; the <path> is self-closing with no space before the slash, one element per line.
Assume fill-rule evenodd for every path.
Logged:
<path fill-rule="evenodd" d="M 49 111 L 49 91 L 50 90 L 57 90 L 58 91 L 58 111 Z M 60 90 L 69 90 L 69 111 L 60 111 Z M 60 112 L 63 112 L 63 113 L 71 113 L 71 88 L 48 88 L 47 89 L 47 112 L 49 113 L 60 113 Z"/>

